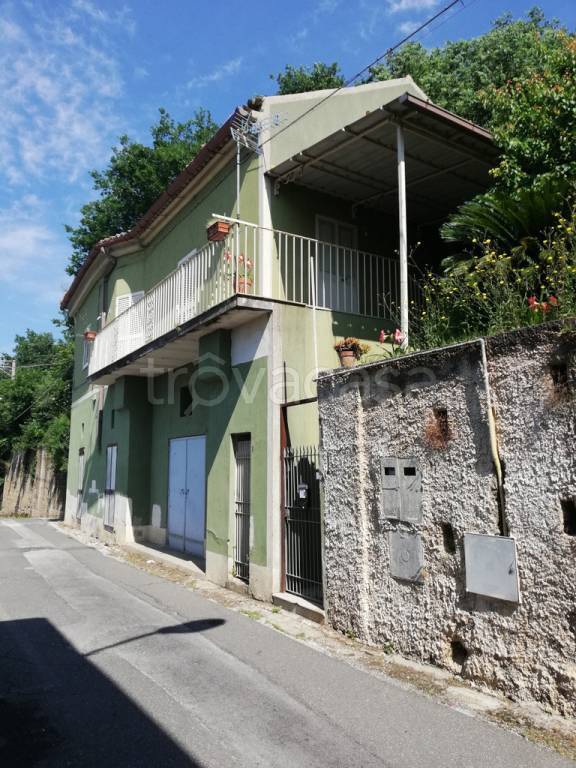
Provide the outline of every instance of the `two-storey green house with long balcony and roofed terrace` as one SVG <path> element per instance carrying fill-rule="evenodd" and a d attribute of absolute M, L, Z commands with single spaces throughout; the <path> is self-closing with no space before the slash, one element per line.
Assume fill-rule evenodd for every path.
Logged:
<path fill-rule="evenodd" d="M 410 78 L 328 93 L 236 110 L 62 303 L 77 337 L 67 521 L 187 551 L 262 598 L 322 600 L 317 370 L 338 338 L 399 323 L 417 293 L 407 245 L 440 257 L 439 222 L 496 157 Z M 208 242 L 208 222 L 228 235 Z"/>

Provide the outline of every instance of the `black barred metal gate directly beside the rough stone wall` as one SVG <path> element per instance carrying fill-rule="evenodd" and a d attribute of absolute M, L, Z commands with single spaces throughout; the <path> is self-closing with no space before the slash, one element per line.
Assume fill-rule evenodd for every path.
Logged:
<path fill-rule="evenodd" d="M 322 605 L 322 531 L 317 447 L 284 449 L 286 592 Z"/>

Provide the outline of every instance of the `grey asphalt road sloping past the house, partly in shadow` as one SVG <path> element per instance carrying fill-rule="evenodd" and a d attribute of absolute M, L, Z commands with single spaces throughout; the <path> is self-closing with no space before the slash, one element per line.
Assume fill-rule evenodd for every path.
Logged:
<path fill-rule="evenodd" d="M 0 766 L 574 763 L 46 523 L 3 521 Z"/>

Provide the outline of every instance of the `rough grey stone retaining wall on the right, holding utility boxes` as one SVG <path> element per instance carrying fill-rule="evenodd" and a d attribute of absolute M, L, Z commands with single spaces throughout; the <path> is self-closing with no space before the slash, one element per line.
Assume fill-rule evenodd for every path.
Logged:
<path fill-rule="evenodd" d="M 321 377 L 337 629 L 576 714 L 575 368 L 573 326 L 547 324 Z M 421 474 L 419 520 L 387 507 L 393 460 Z M 513 537 L 520 602 L 466 590 L 464 533 Z"/>

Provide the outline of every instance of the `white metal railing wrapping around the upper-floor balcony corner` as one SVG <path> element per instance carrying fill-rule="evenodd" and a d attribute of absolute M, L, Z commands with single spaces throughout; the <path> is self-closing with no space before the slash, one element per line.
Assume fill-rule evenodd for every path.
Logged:
<path fill-rule="evenodd" d="M 397 260 L 246 222 L 190 255 L 97 335 L 89 375 L 235 294 L 394 319 L 400 301 Z M 262 254 L 271 258 L 262 277 Z M 270 256 L 268 256 L 270 254 Z M 268 285 L 268 287 L 266 287 Z M 411 297 L 418 298 L 410 278 Z"/>

